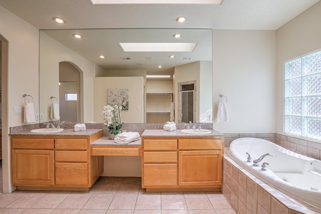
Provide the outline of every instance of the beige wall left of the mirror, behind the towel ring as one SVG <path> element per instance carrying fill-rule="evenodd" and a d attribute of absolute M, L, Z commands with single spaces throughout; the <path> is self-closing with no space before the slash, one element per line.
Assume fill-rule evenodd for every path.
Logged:
<path fill-rule="evenodd" d="M 33 96 L 35 112 L 39 111 L 39 31 L 0 6 L 0 35 L 8 41 L 8 56 L 2 56 L 8 59 L 8 66 L 3 65 L 6 68 L 2 69 L 2 104 L 6 105 L 2 108 L 2 144 L 4 192 L 11 192 L 14 187 L 11 186 L 9 127 L 26 124 L 23 114 L 14 115 L 14 106 L 24 107 L 22 95 L 26 93 Z M 7 49 L 6 45 L 3 48 Z"/>

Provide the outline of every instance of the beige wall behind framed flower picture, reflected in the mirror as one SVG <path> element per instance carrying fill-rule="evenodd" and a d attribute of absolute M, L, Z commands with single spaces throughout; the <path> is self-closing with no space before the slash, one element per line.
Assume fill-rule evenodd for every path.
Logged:
<path fill-rule="evenodd" d="M 144 121 L 144 78 L 143 77 L 95 77 L 94 121 L 103 123 L 101 114 L 106 105 L 108 89 L 128 89 L 129 109 L 121 111 L 121 122 L 143 123 Z M 137 110 L 137 106 L 139 110 Z"/>

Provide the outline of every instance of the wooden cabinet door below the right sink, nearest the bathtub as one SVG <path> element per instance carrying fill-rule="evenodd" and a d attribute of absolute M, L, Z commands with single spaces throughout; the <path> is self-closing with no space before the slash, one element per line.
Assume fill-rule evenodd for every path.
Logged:
<path fill-rule="evenodd" d="M 179 151 L 179 185 L 222 185 L 222 150 Z"/>

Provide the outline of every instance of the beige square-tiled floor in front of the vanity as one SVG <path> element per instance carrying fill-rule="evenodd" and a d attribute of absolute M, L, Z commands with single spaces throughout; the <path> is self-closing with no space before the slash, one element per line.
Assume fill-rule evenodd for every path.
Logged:
<path fill-rule="evenodd" d="M 0 183 L 2 185 L 2 183 Z M 0 192 L 0 213 L 229 214 L 223 194 L 146 192 L 140 177 L 101 177 L 89 191 Z"/>

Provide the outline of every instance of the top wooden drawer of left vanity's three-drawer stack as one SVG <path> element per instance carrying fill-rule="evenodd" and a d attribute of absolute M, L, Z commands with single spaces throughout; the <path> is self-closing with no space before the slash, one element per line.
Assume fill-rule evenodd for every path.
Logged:
<path fill-rule="evenodd" d="M 87 139 L 56 139 L 55 147 L 60 150 L 85 150 L 88 145 Z"/>

